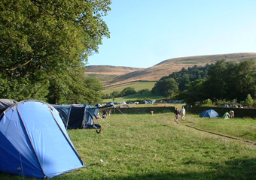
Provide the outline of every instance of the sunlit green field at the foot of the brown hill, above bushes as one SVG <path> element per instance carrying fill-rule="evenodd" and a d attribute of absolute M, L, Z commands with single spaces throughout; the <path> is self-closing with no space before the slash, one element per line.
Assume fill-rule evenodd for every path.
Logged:
<path fill-rule="evenodd" d="M 108 86 L 105 87 L 105 89 L 102 91 L 104 94 L 110 94 L 111 92 L 121 92 L 123 89 L 127 88 L 127 87 L 131 87 L 134 88 L 136 90 L 136 92 L 138 92 L 139 90 L 142 89 L 149 89 L 151 91 L 151 89 L 154 87 L 154 84 L 157 83 L 156 81 L 145 81 L 145 82 L 132 82 L 132 83 L 125 83 L 125 84 L 120 84 L 120 85 L 116 85 L 116 86 Z"/>

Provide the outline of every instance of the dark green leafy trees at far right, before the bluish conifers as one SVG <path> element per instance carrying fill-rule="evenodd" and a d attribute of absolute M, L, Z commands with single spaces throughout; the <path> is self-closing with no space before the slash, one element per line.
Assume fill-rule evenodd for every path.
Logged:
<path fill-rule="evenodd" d="M 255 60 L 247 59 L 243 62 L 226 62 L 218 60 L 215 65 L 209 66 L 206 80 L 189 83 L 188 89 L 178 97 L 188 104 L 211 99 L 215 104 L 218 101 L 242 101 L 248 94 L 254 95 L 256 90 Z"/>

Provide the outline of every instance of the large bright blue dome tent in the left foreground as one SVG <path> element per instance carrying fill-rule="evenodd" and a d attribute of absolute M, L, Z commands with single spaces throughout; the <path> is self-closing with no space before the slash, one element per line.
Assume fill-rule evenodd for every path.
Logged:
<path fill-rule="evenodd" d="M 84 167 L 59 113 L 43 101 L 20 101 L 0 119 L 0 172 L 53 178 Z"/>

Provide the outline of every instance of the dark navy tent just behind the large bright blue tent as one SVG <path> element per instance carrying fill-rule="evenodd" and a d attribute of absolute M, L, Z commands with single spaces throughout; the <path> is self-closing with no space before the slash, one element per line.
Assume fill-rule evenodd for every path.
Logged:
<path fill-rule="evenodd" d="M 97 117 L 99 108 L 83 104 L 52 105 L 59 111 L 62 121 L 69 129 L 78 128 L 100 128 L 95 124 L 93 118 Z"/>

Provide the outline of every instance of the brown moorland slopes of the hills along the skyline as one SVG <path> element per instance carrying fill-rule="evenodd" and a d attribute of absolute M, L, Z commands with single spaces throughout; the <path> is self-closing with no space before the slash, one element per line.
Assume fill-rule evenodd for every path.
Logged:
<path fill-rule="evenodd" d="M 98 77 L 105 87 L 134 81 L 157 81 L 182 68 L 204 66 L 225 58 L 229 61 L 241 61 L 256 58 L 256 53 L 233 53 L 221 55 L 198 55 L 183 58 L 170 58 L 151 68 L 127 68 L 116 66 L 88 66 L 86 76 Z M 103 78 L 104 77 L 104 78 Z"/>

